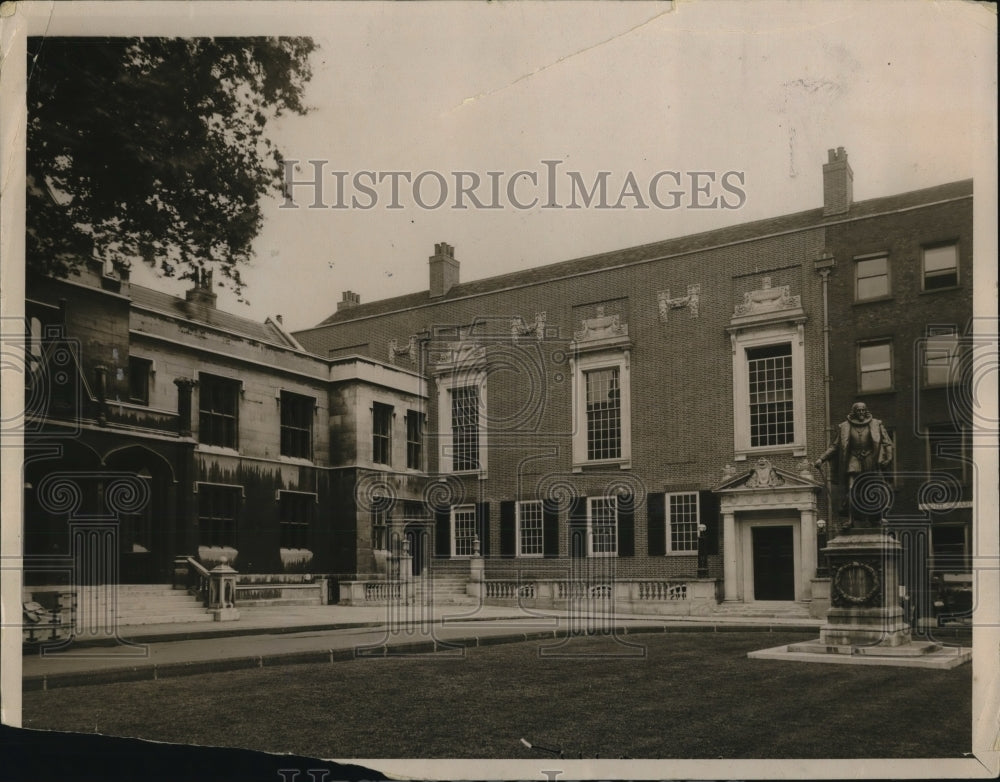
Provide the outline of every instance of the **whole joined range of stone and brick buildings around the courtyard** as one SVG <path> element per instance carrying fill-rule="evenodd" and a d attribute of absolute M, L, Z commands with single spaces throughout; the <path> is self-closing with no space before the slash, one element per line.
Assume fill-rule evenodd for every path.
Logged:
<path fill-rule="evenodd" d="M 405 541 L 417 574 L 481 553 L 487 581 L 802 612 L 838 499 L 812 462 L 861 399 L 897 441 L 889 520 L 924 594 L 969 567 L 972 183 L 852 183 L 831 150 L 814 209 L 471 282 L 440 243 L 428 290 L 347 291 L 294 334 L 219 311 L 210 278 L 32 280 L 26 553 L 121 515 L 107 473 L 131 472 L 152 502 L 122 515 L 126 579 L 180 554 L 385 578 Z M 68 469 L 86 496 L 43 501 Z"/>

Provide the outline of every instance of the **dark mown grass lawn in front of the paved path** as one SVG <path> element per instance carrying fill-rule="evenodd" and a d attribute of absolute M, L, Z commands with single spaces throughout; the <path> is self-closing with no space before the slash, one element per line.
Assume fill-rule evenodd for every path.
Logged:
<path fill-rule="evenodd" d="M 607 638 L 539 657 L 530 642 L 464 657 L 363 659 L 24 693 L 26 728 L 313 757 L 958 757 L 971 666 L 950 671 L 748 660 L 802 634 Z M 576 641 L 574 642 L 574 644 Z"/>

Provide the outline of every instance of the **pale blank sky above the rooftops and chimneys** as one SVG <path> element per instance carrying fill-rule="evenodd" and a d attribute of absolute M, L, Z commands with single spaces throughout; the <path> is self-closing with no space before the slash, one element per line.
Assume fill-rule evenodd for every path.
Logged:
<path fill-rule="evenodd" d="M 305 161 L 323 161 L 327 206 L 336 201 L 332 172 L 348 172 L 347 208 L 307 208 L 308 187 L 293 191 L 298 208 L 269 200 L 245 301 L 219 298 L 257 320 L 282 314 L 292 329 L 330 315 L 344 290 L 363 302 L 426 290 L 436 242 L 455 247 L 468 281 L 821 206 L 833 147 L 848 152 L 856 200 L 982 176 L 995 149 L 995 22 L 967 2 L 202 5 L 96 21 L 59 8 L 44 23 L 52 34 L 96 25 L 314 37 L 311 110 L 270 132 L 287 158 L 303 161 L 297 177 L 311 178 Z M 558 161 L 549 164 L 555 203 L 570 203 L 567 172 L 589 188 L 606 171 L 608 204 L 623 208 L 596 208 L 596 199 L 542 208 L 542 161 Z M 400 208 L 388 208 L 389 180 L 374 188 L 373 208 L 354 207 L 352 195 L 371 202 L 350 187 L 364 171 L 411 180 L 438 172 L 449 197 L 425 208 L 439 192 L 430 173 L 419 190 L 425 206 L 398 179 Z M 471 199 L 453 208 L 460 171 L 482 180 L 487 204 L 487 172 L 499 172 L 502 208 Z M 517 171 L 541 183 L 516 180 L 514 198 L 538 196 L 534 208 L 507 197 Z M 631 174 L 641 196 L 656 181 L 669 205 L 676 183 L 654 180 L 662 171 L 681 177 L 677 208 L 619 201 Z M 699 175 L 708 190 L 694 194 L 690 172 L 712 172 L 714 182 Z M 731 191 L 721 189 L 726 172 Z M 977 178 L 977 195 L 995 187 L 988 176 Z M 133 279 L 184 287 L 141 270 Z"/>

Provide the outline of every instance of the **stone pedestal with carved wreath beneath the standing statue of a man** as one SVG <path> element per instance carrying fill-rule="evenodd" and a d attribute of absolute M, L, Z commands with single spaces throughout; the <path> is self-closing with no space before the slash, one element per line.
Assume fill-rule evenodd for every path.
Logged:
<path fill-rule="evenodd" d="M 899 605 L 899 541 L 879 530 L 855 531 L 823 549 L 830 564 L 825 646 L 902 646 L 910 626 Z"/>

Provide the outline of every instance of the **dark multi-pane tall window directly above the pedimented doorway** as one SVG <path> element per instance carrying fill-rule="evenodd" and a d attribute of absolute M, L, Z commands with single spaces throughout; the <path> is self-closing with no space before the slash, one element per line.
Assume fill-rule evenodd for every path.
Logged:
<path fill-rule="evenodd" d="M 750 392 L 750 446 L 795 441 L 792 346 L 747 349 Z"/>

